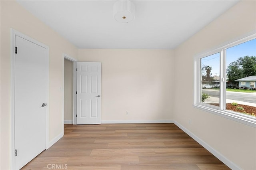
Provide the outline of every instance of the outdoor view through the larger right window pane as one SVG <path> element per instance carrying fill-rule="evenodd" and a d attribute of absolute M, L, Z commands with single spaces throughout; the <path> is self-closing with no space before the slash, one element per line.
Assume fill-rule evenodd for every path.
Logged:
<path fill-rule="evenodd" d="M 256 39 L 226 49 L 226 110 L 256 117 Z"/>

